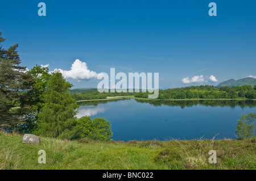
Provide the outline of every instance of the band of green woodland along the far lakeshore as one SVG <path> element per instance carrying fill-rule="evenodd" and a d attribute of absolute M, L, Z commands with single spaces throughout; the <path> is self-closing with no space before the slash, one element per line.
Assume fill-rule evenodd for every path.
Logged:
<path fill-rule="evenodd" d="M 148 99 L 148 93 L 143 92 L 103 92 L 96 89 L 71 90 L 71 96 L 77 101 L 107 99 L 111 96 L 134 96 L 134 98 Z M 158 99 L 256 99 L 256 86 L 250 85 L 233 87 L 214 87 L 214 86 L 190 86 L 176 89 L 159 90 Z"/>

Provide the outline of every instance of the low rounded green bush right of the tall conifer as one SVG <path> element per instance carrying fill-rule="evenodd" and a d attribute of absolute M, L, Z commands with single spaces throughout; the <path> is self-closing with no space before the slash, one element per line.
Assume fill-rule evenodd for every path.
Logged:
<path fill-rule="evenodd" d="M 73 138 L 88 137 L 92 140 L 108 141 L 113 136 L 110 122 L 102 117 L 93 120 L 89 116 L 81 117 L 73 128 Z"/>

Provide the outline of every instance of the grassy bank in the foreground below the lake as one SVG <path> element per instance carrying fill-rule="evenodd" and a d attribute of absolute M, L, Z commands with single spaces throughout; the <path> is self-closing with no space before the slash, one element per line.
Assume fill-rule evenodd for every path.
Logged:
<path fill-rule="evenodd" d="M 0 169 L 256 169 L 256 139 L 97 142 L 41 138 L 22 144 L 22 135 L 0 132 Z M 38 151 L 46 151 L 46 164 Z M 208 163 L 209 150 L 217 164 Z"/>

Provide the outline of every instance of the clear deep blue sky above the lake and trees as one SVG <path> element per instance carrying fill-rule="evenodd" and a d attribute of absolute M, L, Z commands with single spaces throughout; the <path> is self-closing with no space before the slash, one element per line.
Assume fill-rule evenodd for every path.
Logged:
<path fill-rule="evenodd" d="M 47 16 L 38 16 L 39 2 Z M 210 2 L 217 16 L 208 15 Z M 0 31 L 3 47 L 19 44 L 28 69 L 68 71 L 79 59 L 97 74 L 157 72 L 162 89 L 217 85 L 256 76 L 255 7 L 253 0 L 10 0 L 1 2 Z M 74 88 L 97 87 L 95 79 L 71 77 Z"/>

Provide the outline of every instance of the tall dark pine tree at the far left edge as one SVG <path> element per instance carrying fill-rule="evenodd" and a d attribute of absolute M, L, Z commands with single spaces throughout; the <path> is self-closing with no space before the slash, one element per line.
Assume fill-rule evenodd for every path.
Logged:
<path fill-rule="evenodd" d="M 0 44 L 5 41 L 0 32 Z M 30 76 L 26 74 L 26 67 L 20 66 L 18 44 L 9 49 L 0 47 L 0 125 L 10 128 L 20 124 L 20 114 L 26 110 L 26 105 L 13 111 L 18 107 L 20 100 L 26 98 L 25 92 L 30 88 L 27 82 Z"/>

